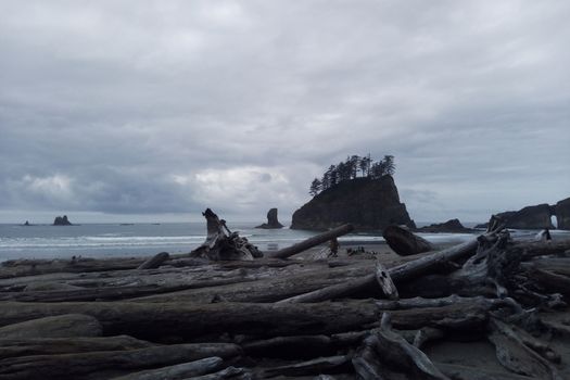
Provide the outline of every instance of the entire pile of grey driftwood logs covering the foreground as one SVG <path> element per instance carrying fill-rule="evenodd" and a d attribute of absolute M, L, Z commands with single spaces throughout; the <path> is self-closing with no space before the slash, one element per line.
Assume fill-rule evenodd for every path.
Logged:
<path fill-rule="evenodd" d="M 307 261 L 292 255 L 322 239 L 259 257 L 204 216 L 190 256 L 3 263 L 0 378 L 570 378 L 570 240 L 498 228 L 396 261 Z"/>

